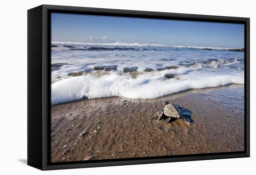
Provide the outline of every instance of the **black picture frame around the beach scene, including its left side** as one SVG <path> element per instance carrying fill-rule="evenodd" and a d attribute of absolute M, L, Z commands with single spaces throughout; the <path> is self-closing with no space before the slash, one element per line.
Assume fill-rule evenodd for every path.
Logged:
<path fill-rule="evenodd" d="M 244 151 L 77 162 L 50 162 L 51 12 L 244 24 Z M 41 5 L 27 11 L 27 164 L 41 170 L 249 157 L 249 18 Z"/>

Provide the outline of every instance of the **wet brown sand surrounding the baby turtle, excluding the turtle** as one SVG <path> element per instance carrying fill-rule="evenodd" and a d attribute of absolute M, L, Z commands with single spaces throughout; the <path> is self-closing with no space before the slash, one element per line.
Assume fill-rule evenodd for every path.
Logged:
<path fill-rule="evenodd" d="M 154 100 L 112 97 L 52 106 L 51 161 L 243 151 L 243 91 L 243 85 L 229 85 Z M 194 125 L 158 121 L 165 100 L 192 111 Z"/>

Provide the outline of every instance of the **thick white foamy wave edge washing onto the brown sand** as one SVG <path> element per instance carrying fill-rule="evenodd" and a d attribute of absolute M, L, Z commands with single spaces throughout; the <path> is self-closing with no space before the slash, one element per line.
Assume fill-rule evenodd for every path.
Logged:
<path fill-rule="evenodd" d="M 166 79 L 168 71 L 182 74 Z M 131 78 L 128 74 L 120 75 L 110 72 L 96 77 L 82 75 L 57 81 L 52 84 L 52 105 L 81 100 L 106 97 L 125 97 L 130 99 L 154 99 L 189 89 L 213 88 L 228 84 L 243 84 L 243 74 L 220 75 L 193 71 L 184 74 L 185 70 L 164 70 L 155 73 L 141 74 Z"/>

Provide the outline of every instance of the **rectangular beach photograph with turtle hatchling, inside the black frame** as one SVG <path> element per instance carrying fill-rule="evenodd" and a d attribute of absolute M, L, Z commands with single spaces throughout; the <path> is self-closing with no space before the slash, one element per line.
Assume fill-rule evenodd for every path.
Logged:
<path fill-rule="evenodd" d="M 51 162 L 244 151 L 244 25 L 51 13 Z"/>

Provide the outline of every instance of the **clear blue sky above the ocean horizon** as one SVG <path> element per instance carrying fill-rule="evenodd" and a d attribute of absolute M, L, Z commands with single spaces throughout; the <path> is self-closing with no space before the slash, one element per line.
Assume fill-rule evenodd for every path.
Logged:
<path fill-rule="evenodd" d="M 52 13 L 52 41 L 244 47 L 244 25 Z"/>

